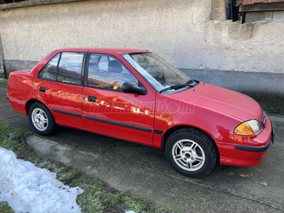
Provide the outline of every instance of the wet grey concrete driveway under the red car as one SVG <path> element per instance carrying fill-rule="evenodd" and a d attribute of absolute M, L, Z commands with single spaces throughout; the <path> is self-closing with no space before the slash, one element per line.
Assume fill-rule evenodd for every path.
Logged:
<path fill-rule="evenodd" d="M 0 87 L 0 122 L 32 131 L 28 116 L 11 110 Z M 261 165 L 218 165 L 202 179 L 185 178 L 155 148 L 60 127 L 28 138 L 38 155 L 75 165 L 111 187 L 171 204 L 183 212 L 284 212 L 284 117 L 271 115 L 275 143 Z"/>

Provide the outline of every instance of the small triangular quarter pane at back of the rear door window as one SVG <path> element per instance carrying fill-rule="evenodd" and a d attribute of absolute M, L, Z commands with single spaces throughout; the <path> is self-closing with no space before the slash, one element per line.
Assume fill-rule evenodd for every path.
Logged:
<path fill-rule="evenodd" d="M 38 73 L 38 77 L 46 79 L 46 80 L 55 80 L 56 79 L 56 71 L 58 69 L 58 60 L 60 54 L 55 55 L 53 59 L 51 59 L 44 67 L 43 70 Z"/>

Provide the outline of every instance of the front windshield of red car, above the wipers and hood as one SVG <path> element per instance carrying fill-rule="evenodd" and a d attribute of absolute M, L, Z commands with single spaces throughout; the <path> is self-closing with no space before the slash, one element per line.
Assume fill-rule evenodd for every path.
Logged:
<path fill-rule="evenodd" d="M 190 77 L 153 53 L 133 53 L 122 55 L 156 90 L 185 84 Z"/>

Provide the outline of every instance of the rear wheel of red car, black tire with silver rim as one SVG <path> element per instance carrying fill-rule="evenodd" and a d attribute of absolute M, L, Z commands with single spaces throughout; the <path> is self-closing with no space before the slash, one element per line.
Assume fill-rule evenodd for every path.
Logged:
<path fill-rule="evenodd" d="M 55 132 L 56 124 L 53 115 L 43 104 L 35 103 L 28 110 L 28 119 L 36 133 L 48 136 Z"/>

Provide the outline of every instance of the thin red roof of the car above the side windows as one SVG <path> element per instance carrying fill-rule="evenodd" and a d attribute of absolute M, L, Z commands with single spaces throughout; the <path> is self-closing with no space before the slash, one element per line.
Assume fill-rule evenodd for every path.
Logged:
<path fill-rule="evenodd" d="M 139 50 L 139 49 L 131 49 L 131 48 L 63 48 L 55 50 L 56 52 L 95 52 L 95 53 L 116 53 L 116 54 L 124 54 L 124 53 L 146 53 L 148 50 Z"/>

